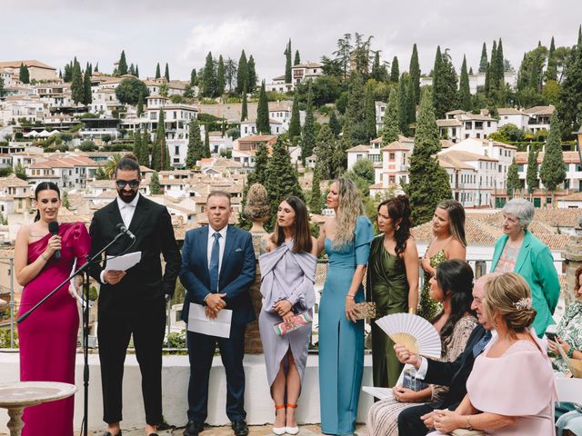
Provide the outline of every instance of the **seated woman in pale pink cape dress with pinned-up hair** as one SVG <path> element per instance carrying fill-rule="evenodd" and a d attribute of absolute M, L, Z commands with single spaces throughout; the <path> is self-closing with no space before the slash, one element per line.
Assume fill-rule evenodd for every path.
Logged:
<path fill-rule="evenodd" d="M 467 380 L 467 395 L 456 411 L 436 411 L 435 429 L 484 434 L 553 435 L 554 372 L 536 333 L 527 282 L 515 272 L 492 278 L 485 287 L 486 317 L 497 337 L 477 357 Z"/>

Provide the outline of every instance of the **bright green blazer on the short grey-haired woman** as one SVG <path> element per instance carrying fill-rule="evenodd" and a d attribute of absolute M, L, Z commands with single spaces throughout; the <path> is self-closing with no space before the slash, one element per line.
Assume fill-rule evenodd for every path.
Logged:
<path fill-rule="evenodd" d="M 503 234 L 495 243 L 491 272 L 495 271 L 507 239 L 507 234 Z M 526 279 L 531 289 L 532 305 L 537 312 L 532 327 L 536 329 L 537 336 L 542 337 L 547 326 L 554 323 L 552 315 L 556 310 L 557 300 L 560 296 L 560 283 L 557 280 L 554 258 L 549 248 L 528 231 L 526 231 L 524 242 L 517 254 L 516 267 L 513 272 Z"/>

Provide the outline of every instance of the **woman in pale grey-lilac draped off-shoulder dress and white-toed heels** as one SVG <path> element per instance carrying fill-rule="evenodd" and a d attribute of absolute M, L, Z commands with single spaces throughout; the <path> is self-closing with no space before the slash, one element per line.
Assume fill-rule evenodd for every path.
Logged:
<path fill-rule="evenodd" d="M 306 369 L 311 326 L 277 335 L 273 326 L 309 312 L 316 303 L 316 239 L 309 232 L 306 204 L 296 196 L 281 202 L 275 231 L 259 257 L 263 307 L 258 318 L 266 375 L 275 401 L 275 434 L 296 434 L 295 410 Z"/>

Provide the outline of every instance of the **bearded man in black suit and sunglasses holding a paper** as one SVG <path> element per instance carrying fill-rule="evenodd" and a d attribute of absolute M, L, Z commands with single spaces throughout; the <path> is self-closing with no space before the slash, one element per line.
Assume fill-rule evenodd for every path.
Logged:
<path fill-rule="evenodd" d="M 115 167 L 117 198 L 97 211 L 91 222 L 92 255 L 110 243 L 125 225 L 135 239 L 125 236 L 107 249 L 107 255 L 141 252 L 141 260 L 127 271 L 107 271 L 95 263 L 91 275 L 101 283 L 97 339 L 103 389 L 105 436 L 121 434 L 122 381 L 125 352 L 133 334 L 135 355 L 142 373 L 146 408 L 146 435 L 156 435 L 162 422 L 162 343 L 166 325 L 166 298 L 176 287 L 180 252 L 165 206 L 138 193 L 141 174 L 133 157 Z M 162 275 L 160 253 L 166 269 Z"/>

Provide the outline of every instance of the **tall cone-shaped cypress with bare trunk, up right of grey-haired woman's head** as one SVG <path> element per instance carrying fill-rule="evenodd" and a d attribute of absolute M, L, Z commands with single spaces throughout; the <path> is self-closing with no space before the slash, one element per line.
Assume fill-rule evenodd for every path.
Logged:
<path fill-rule="evenodd" d="M 539 169 L 539 178 L 547 190 L 552 193 L 552 206 L 555 207 L 554 193 L 556 193 L 557 186 L 566 180 L 564 154 L 562 152 L 562 136 L 560 134 L 556 110 L 554 110 L 549 120 L 546 153 L 544 154 L 542 166 Z"/>

